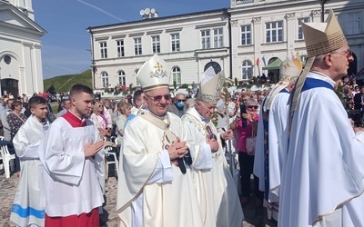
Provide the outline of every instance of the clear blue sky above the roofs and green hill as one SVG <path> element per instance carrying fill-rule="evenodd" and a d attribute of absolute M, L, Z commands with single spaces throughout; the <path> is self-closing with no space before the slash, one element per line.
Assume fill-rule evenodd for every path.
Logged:
<path fill-rule="evenodd" d="M 140 10 L 147 7 L 155 8 L 162 17 L 229 5 L 230 0 L 33 0 L 35 22 L 47 31 L 41 38 L 43 77 L 78 74 L 90 68 L 89 26 L 140 20 Z"/>

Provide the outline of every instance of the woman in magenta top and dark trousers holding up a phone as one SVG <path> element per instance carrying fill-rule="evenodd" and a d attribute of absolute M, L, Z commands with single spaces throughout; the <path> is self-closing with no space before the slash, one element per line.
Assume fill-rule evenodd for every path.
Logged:
<path fill-rule="evenodd" d="M 241 179 L 241 204 L 247 205 L 250 198 L 250 175 L 253 173 L 254 153 L 248 153 L 247 139 L 252 138 L 258 131 L 258 102 L 254 98 L 249 98 L 246 105 L 246 113 L 230 123 L 231 130 L 238 133 L 238 161 L 240 164 Z M 249 139 L 250 140 L 250 139 Z M 256 207 L 263 204 L 263 192 L 259 191 L 258 177 L 254 176 L 254 192 L 256 196 Z"/>

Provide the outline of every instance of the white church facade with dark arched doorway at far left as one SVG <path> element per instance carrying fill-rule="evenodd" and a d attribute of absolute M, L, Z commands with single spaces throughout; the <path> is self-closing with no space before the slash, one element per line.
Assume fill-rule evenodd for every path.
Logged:
<path fill-rule="evenodd" d="M 1 95 L 44 90 L 40 38 L 46 32 L 34 18 L 31 0 L 0 0 Z"/>

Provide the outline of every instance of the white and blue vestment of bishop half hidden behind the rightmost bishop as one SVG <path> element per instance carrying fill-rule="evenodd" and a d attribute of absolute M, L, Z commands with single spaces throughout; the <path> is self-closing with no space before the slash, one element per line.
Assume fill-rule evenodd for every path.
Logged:
<path fill-rule="evenodd" d="M 266 193 L 265 199 L 269 202 L 265 202 L 268 207 L 268 218 L 272 216 L 275 220 L 278 220 L 280 176 L 287 153 L 288 99 L 289 93 L 284 88 L 273 97 L 268 111 L 264 112 L 263 105 L 267 102 L 265 99 L 260 108 L 258 121 L 253 173 L 259 178 L 259 190 Z M 268 123 L 264 127 L 267 121 Z M 268 133 L 266 137 L 264 133 Z M 268 138 L 268 142 L 266 138 Z M 265 143 L 268 143 L 268 154 L 264 151 Z M 267 175 L 268 177 L 266 177 Z"/>

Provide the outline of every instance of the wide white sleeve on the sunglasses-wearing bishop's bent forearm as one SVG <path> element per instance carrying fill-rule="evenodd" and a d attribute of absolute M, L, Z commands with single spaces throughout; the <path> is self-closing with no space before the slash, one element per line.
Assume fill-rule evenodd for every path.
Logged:
<path fill-rule="evenodd" d="M 167 150 L 158 153 L 156 169 L 150 176 L 147 184 L 152 183 L 171 183 L 173 181 L 172 166 Z"/>

